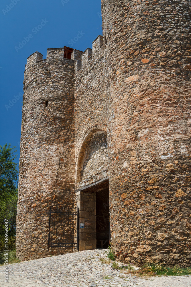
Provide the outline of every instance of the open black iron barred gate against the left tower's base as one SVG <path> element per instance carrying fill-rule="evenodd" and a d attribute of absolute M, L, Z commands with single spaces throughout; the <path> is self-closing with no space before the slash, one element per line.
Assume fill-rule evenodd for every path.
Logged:
<path fill-rule="evenodd" d="M 49 214 L 48 250 L 79 250 L 79 208 L 51 208 Z"/>

